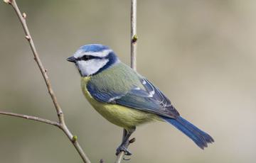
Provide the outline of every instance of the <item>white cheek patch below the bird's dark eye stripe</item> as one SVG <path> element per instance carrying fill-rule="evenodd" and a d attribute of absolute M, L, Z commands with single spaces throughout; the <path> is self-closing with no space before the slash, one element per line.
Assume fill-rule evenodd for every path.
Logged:
<path fill-rule="evenodd" d="M 108 59 L 92 59 L 86 61 L 80 60 L 77 63 L 78 69 L 80 69 L 82 76 L 89 76 L 98 72 L 102 67 L 107 64 L 107 62 L 109 62 Z"/>

